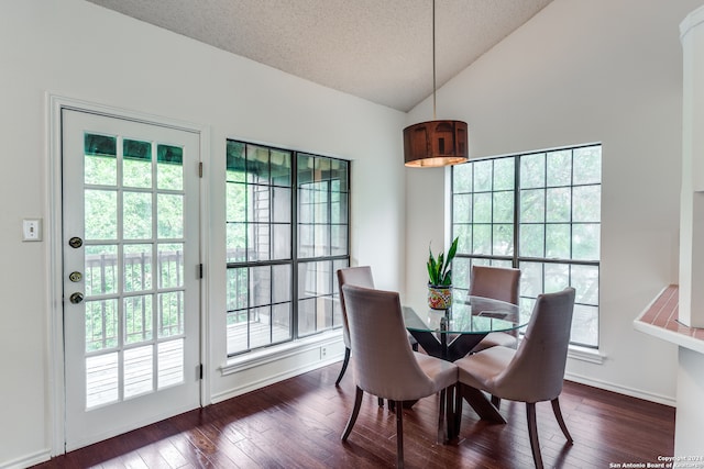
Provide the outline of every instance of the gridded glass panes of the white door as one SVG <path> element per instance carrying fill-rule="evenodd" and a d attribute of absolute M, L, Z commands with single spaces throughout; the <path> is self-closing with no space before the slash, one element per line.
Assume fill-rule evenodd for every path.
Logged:
<path fill-rule="evenodd" d="M 84 135 L 86 409 L 184 380 L 183 148 Z"/>

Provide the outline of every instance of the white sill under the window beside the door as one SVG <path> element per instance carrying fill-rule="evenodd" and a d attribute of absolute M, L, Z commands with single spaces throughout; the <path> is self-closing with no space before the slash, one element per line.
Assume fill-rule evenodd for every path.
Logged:
<path fill-rule="evenodd" d="M 220 367 L 220 371 L 222 376 L 232 375 L 250 368 L 256 368 L 266 364 L 278 361 L 282 358 L 292 357 L 301 353 L 318 349 L 320 347 L 341 342 L 342 330 L 328 331 L 296 342 L 288 342 L 286 344 L 276 345 L 261 350 L 254 350 L 249 354 L 243 354 L 238 357 L 229 358 L 226 364 Z M 332 364 L 339 360 L 340 358 L 334 355 L 328 355 L 324 358 L 321 357 L 321 364 L 328 361 Z"/>

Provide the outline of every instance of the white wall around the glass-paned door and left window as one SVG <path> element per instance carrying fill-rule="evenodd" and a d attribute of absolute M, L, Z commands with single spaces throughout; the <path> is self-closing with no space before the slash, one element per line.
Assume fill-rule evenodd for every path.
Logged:
<path fill-rule="evenodd" d="M 352 263 L 400 289 L 405 115 L 227 54 L 82 0 L 2 0 L 0 14 L 0 467 L 48 457 L 54 362 L 50 245 L 21 242 L 24 217 L 47 220 L 46 93 L 194 122 L 210 129 L 202 155 L 211 226 L 206 288 L 212 394 L 224 361 L 224 142 L 227 137 L 352 159 Z M 367 190 L 373 185 L 374 191 Z M 50 227 L 47 227 L 50 228 Z M 61 313 L 61 305 L 56 305 Z M 252 379 L 261 379 L 253 377 Z M 206 397 L 209 401 L 210 395 Z"/>

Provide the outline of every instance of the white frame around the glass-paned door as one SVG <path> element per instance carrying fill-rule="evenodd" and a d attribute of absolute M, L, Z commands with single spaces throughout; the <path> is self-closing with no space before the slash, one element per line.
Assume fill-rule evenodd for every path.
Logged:
<path fill-rule="evenodd" d="M 46 286 L 47 286 L 47 347 L 46 347 L 46 365 L 47 365 L 47 398 L 48 398 L 48 415 L 51 433 L 47 435 L 51 440 L 51 456 L 58 456 L 66 451 L 66 433 L 64 423 L 66 420 L 66 387 L 64 380 L 65 373 L 65 354 L 64 354 L 64 308 L 63 308 L 63 219 L 62 219 L 62 111 L 72 110 L 77 112 L 94 113 L 106 115 L 114 119 L 123 119 L 129 121 L 141 122 L 151 125 L 161 125 L 177 129 L 186 132 L 193 132 L 199 135 L 200 163 L 205 168 L 210 165 L 210 129 L 202 124 L 179 121 L 160 115 L 147 114 L 139 111 L 131 111 L 105 104 L 82 101 L 79 99 L 63 97 L 47 92 L 46 100 L 46 129 L 47 135 L 47 161 L 45 174 L 46 188 L 46 224 L 45 232 L 47 237 L 46 244 Z M 207 226 L 210 226 L 211 214 L 208 203 L 208 175 L 204 168 L 202 177 L 199 183 L 199 257 L 200 263 L 206 264 L 209 259 L 209 234 Z M 195 170 L 195 168 L 194 168 Z M 207 271 L 204 267 L 204 271 Z M 200 380 L 200 406 L 210 404 L 210 364 L 209 357 L 209 300 L 207 292 L 208 276 L 204 275 L 200 280 L 200 362 L 204 366 L 202 379 Z"/>

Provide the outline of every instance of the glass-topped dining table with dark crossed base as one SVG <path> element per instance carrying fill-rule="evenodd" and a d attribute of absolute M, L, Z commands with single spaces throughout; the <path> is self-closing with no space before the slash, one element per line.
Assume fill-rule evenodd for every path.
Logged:
<path fill-rule="evenodd" d="M 448 310 L 426 308 L 419 311 L 403 306 L 403 313 L 406 330 L 422 349 L 448 361 L 471 353 L 487 334 L 512 333 L 530 320 L 529 314 L 521 314 L 515 304 L 472 295 L 455 301 Z M 481 391 L 465 388 L 463 397 L 481 418 L 506 422 Z"/>

